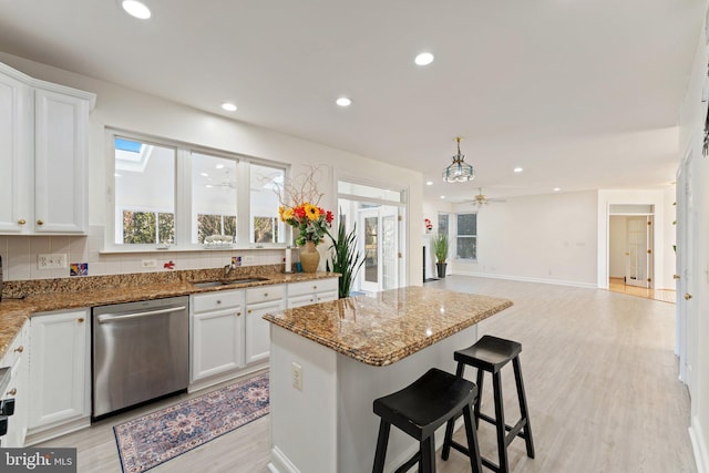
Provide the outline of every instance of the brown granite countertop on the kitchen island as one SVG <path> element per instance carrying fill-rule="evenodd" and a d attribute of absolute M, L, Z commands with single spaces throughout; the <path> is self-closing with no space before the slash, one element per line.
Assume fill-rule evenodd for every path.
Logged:
<path fill-rule="evenodd" d="M 511 306 L 495 297 L 404 287 L 264 318 L 362 363 L 384 367 Z"/>

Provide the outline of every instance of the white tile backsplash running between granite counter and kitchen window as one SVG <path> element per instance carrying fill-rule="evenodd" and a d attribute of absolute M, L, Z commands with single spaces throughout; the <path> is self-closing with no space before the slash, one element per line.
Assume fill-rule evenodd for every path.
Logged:
<path fill-rule="evenodd" d="M 240 258 L 244 266 L 277 265 L 284 261 L 284 249 L 234 249 L 196 251 L 153 251 L 101 254 L 102 226 L 91 226 L 88 236 L 13 236 L 0 235 L 0 256 L 4 280 L 54 279 L 70 277 L 72 265 L 88 267 L 88 276 L 131 273 L 156 273 L 172 269 L 207 269 L 224 267 L 232 258 Z M 66 255 L 66 267 L 39 269 L 39 255 Z M 253 258 L 243 258 L 243 256 Z"/>

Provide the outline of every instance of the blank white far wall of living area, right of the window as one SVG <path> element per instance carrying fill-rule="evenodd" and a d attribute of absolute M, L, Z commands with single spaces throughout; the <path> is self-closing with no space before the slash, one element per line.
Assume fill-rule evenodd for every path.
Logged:
<path fill-rule="evenodd" d="M 596 206 L 593 191 L 489 204 L 477 213 L 477 261 L 453 260 L 453 273 L 595 287 Z"/>

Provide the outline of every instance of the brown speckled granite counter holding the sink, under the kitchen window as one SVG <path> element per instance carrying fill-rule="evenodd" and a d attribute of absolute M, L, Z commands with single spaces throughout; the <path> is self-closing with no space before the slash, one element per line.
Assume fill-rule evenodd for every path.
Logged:
<path fill-rule="evenodd" d="M 109 304 L 132 302 L 136 300 L 160 299 L 164 297 L 186 296 L 191 294 L 212 292 L 229 289 L 242 289 L 259 286 L 269 286 L 287 282 L 299 282 L 312 279 L 332 278 L 339 276 L 336 273 L 257 273 L 257 274 L 237 274 L 229 279 L 209 277 L 213 274 L 202 276 L 191 273 L 185 277 L 194 278 L 193 281 L 205 280 L 224 280 L 244 279 L 248 276 L 257 276 L 264 280 L 216 286 L 209 288 L 199 288 L 191 280 L 157 280 L 151 277 L 154 274 L 131 274 L 112 277 L 112 279 L 121 278 L 123 281 L 117 287 L 105 287 L 105 278 L 95 278 L 96 284 L 92 286 L 90 278 L 75 281 L 76 287 L 72 290 L 72 282 L 65 281 L 63 278 L 59 282 L 54 280 L 35 280 L 28 281 L 27 292 L 21 298 L 12 299 L 6 297 L 0 301 L 0 358 L 2 358 L 14 339 L 20 332 L 25 320 L 33 313 L 48 312 L 52 310 L 64 310 L 75 308 L 86 308 L 105 306 Z M 81 285 L 79 285 L 81 282 Z M 17 297 L 17 296 L 16 296 Z"/>

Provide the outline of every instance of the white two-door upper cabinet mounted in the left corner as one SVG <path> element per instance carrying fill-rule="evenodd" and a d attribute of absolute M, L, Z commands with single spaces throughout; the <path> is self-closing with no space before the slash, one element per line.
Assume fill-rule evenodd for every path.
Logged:
<path fill-rule="evenodd" d="M 94 102 L 0 63 L 0 234 L 85 234 Z"/>

